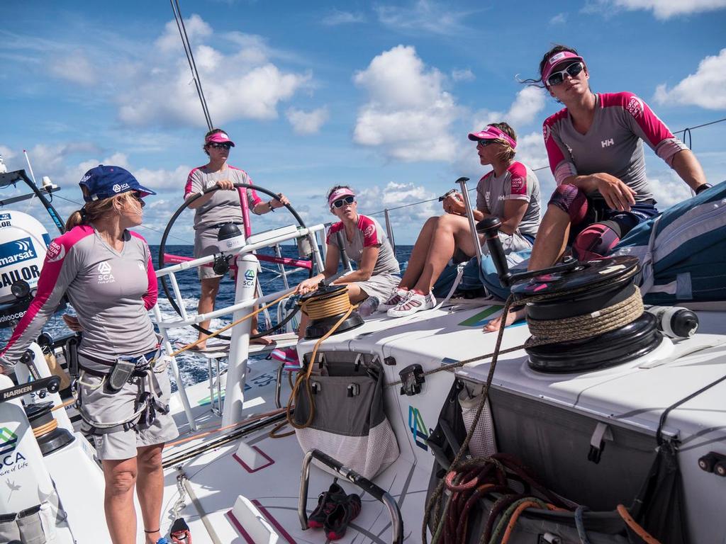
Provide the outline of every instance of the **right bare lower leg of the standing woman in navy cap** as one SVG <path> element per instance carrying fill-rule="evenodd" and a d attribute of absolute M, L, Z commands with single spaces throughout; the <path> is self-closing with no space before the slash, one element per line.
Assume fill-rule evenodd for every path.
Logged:
<path fill-rule="evenodd" d="M 164 472 L 161 468 L 161 452 L 163 444 L 144 446 L 138 448 L 138 484 L 136 495 L 139 496 L 141 514 L 144 519 L 144 529 L 152 531 L 160 529 L 161 500 L 164 495 Z M 160 532 L 147 532 L 147 544 L 155 544 L 160 539 Z"/>

